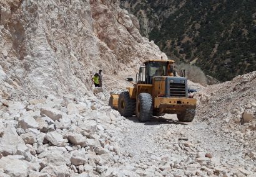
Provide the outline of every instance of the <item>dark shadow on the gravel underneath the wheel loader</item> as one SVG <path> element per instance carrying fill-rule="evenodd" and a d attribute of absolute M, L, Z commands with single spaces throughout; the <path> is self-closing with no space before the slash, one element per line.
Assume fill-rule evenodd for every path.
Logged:
<path fill-rule="evenodd" d="M 126 117 L 126 119 L 132 120 L 133 122 L 138 122 L 144 125 L 160 125 L 160 124 L 176 124 L 176 125 L 187 125 L 184 122 L 179 122 L 173 119 L 166 119 L 164 117 L 152 116 L 147 122 L 140 122 L 136 116 Z"/>

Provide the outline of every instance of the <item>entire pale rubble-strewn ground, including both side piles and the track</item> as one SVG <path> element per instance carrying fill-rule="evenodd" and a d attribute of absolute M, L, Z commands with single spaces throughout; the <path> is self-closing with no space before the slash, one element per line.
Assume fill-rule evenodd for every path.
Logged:
<path fill-rule="evenodd" d="M 101 99 L 104 88 L 84 98 L 1 99 L 0 176 L 255 176 L 255 81 L 253 72 L 199 85 L 186 124 L 174 115 L 126 119 Z"/>

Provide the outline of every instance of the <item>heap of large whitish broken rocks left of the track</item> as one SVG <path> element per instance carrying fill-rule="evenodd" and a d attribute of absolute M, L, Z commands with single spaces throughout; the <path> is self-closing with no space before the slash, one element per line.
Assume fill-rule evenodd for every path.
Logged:
<path fill-rule="evenodd" d="M 124 117 L 95 96 L 1 102 L 0 176 L 111 176 L 122 171 L 113 136 Z"/>

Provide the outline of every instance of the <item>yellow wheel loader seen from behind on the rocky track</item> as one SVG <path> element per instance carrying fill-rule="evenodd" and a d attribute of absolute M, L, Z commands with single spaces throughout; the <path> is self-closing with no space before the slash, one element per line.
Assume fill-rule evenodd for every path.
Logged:
<path fill-rule="evenodd" d="M 111 94 L 109 106 L 121 116 L 136 114 L 141 122 L 165 113 L 177 114 L 182 122 L 195 117 L 196 99 L 190 98 L 187 78 L 175 76 L 174 60 L 148 60 L 139 68 L 133 87 L 121 94 Z M 127 78 L 132 83 L 132 78 Z"/>

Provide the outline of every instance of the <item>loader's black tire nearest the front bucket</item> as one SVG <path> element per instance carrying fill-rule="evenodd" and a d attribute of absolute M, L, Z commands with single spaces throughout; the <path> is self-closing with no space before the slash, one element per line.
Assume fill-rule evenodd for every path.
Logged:
<path fill-rule="evenodd" d="M 135 111 L 135 99 L 130 99 L 128 91 L 124 91 L 120 94 L 118 99 L 118 111 L 121 116 L 130 117 Z"/>

